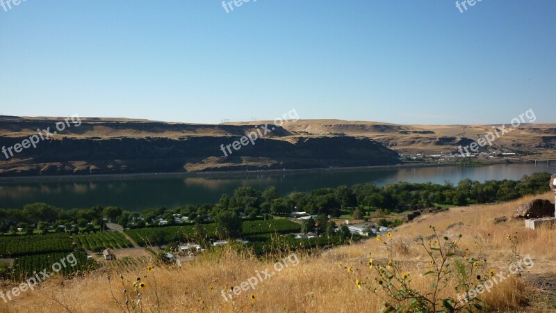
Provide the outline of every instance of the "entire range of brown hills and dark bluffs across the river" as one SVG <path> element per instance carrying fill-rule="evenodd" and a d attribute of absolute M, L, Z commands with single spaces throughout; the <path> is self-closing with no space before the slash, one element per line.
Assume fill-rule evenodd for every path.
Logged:
<path fill-rule="evenodd" d="M 0 116 L 0 147 L 21 144 L 37 135 L 37 129 L 54 131 L 56 122 L 63 120 Z M 458 153 L 460 145 L 466 147 L 500 129 L 500 125 L 343 120 L 297 120 L 281 126 L 271 121 L 218 125 L 121 118 L 76 121 L 70 120 L 67 127 L 51 140 L 37 143 L 36 148 L 24 149 L 8 159 L 0 154 L 0 177 L 387 166 L 400 163 L 398 154 Z M 265 124 L 274 129 L 261 131 Z M 222 152 L 222 145 L 258 131 L 263 136 L 253 141 L 254 145 L 231 149 L 231 154 Z M 554 159 L 555 148 L 556 125 L 523 124 L 481 151 Z"/>

